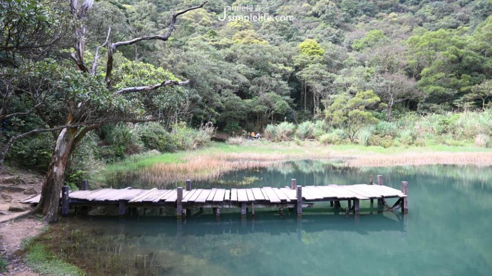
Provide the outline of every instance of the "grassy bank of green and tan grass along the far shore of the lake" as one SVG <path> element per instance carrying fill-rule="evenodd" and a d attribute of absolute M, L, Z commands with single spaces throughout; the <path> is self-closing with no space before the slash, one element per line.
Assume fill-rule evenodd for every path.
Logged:
<path fill-rule="evenodd" d="M 428 146 L 323 145 L 316 141 L 242 141 L 238 145 L 213 142 L 196 151 L 159 154 L 149 152 L 106 166 L 97 179 L 111 186 L 133 182 L 165 187 L 191 178 L 207 181 L 241 169 L 271 167 L 280 161 L 341 160 L 343 165 L 392 166 L 425 164 L 492 164 L 492 149 L 430 144 Z"/>

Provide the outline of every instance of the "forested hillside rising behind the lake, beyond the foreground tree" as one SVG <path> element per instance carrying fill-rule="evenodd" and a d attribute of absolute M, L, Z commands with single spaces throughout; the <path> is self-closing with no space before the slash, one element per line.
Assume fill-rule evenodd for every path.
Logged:
<path fill-rule="evenodd" d="M 170 10 L 197 4 L 96 2 L 93 46 L 108 25 L 113 36 L 159 33 Z M 241 19 L 257 7 L 272 17 Z M 190 79 L 180 119 L 212 121 L 226 132 L 324 118 L 337 95 L 368 90 L 381 99 L 373 110 L 383 120 L 481 109 L 492 89 L 491 7 L 485 0 L 211 0 L 179 20 L 171 43 L 145 42 L 123 54 Z M 224 10 L 242 17 L 222 20 Z"/>

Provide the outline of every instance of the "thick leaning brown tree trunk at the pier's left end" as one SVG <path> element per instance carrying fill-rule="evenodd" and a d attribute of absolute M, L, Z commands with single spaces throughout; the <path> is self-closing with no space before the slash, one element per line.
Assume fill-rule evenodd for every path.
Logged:
<path fill-rule="evenodd" d="M 58 220 L 61 186 L 63 186 L 65 169 L 74 146 L 76 134 L 77 128 L 63 129 L 56 140 L 55 150 L 46 173 L 38 205 L 47 222 Z"/>

